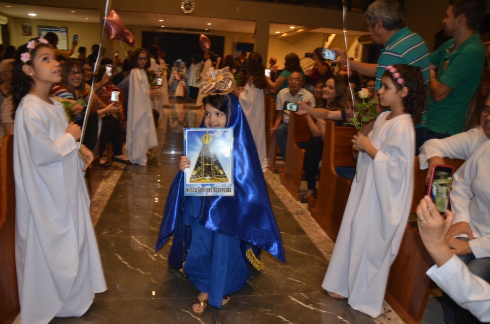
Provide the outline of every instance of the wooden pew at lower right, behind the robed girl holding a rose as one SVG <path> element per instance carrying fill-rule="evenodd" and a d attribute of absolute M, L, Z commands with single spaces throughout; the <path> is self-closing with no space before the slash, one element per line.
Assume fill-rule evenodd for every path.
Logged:
<path fill-rule="evenodd" d="M 463 160 L 444 159 L 445 164 L 457 170 Z M 415 157 L 413 172 L 413 198 L 410 213 L 415 213 L 420 200 L 427 193 L 425 178 L 427 169 L 419 167 Z M 420 323 L 430 295 L 430 279 L 425 272 L 434 265 L 420 234 L 409 225 L 400 245 L 397 258 L 389 270 L 386 286 L 386 302 L 405 323 Z"/>

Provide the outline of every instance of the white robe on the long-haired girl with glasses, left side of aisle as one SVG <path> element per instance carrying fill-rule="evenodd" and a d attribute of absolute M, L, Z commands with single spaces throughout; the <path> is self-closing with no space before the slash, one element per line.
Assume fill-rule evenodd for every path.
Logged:
<path fill-rule="evenodd" d="M 146 152 L 158 144 L 153 119 L 150 84 L 143 69 L 132 69 L 129 75 L 126 156 L 139 165 L 146 165 Z"/>

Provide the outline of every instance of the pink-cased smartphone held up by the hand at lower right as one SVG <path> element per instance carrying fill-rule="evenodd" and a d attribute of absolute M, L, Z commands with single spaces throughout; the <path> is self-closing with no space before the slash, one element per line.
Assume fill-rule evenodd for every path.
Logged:
<path fill-rule="evenodd" d="M 454 168 L 450 165 L 436 164 L 432 167 L 427 195 L 432 198 L 442 215 L 445 215 L 448 209 L 453 172 Z"/>

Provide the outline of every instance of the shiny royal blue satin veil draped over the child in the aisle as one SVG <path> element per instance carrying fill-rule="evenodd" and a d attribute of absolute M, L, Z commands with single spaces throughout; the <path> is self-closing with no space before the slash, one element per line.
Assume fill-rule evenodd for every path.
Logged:
<path fill-rule="evenodd" d="M 285 262 L 281 237 L 272 212 L 269 195 L 249 124 L 235 95 L 225 95 L 228 111 L 225 127 L 233 128 L 234 196 L 184 196 L 184 173 L 179 171 L 168 192 L 156 248 L 159 250 L 174 234 L 169 262 L 182 267 L 190 244 L 190 223 L 200 223 L 211 231 L 235 237 L 265 250 Z M 204 121 L 201 124 L 204 126 Z"/>

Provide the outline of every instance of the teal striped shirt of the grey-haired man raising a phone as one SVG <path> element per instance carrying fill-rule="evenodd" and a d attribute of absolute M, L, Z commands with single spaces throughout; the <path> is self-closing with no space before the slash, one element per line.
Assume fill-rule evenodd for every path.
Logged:
<path fill-rule="evenodd" d="M 420 66 L 425 83 L 429 85 L 429 49 L 422 37 L 410 31 L 408 27 L 391 35 L 381 48 L 376 68 L 376 90 L 381 88 L 381 77 L 386 66 L 401 63 Z"/>

